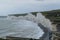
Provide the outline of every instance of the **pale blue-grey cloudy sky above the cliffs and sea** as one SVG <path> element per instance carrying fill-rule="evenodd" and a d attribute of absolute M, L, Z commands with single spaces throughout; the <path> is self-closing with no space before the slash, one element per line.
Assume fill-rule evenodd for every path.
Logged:
<path fill-rule="evenodd" d="M 60 0 L 0 0 L 0 16 L 60 9 Z"/>

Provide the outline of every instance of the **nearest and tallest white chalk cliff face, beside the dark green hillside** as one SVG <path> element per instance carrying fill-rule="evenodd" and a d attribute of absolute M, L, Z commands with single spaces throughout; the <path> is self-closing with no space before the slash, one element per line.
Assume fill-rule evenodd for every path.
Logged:
<path fill-rule="evenodd" d="M 44 27 L 50 29 L 52 31 L 52 23 L 49 19 L 45 18 L 45 16 L 42 15 L 42 13 L 37 13 L 36 17 L 37 23 L 41 23 Z"/>

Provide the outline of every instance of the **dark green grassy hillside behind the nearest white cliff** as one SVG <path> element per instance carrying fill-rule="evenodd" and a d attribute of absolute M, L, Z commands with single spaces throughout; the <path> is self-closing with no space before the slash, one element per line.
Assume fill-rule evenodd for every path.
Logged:
<path fill-rule="evenodd" d="M 55 23 L 60 23 L 60 10 L 45 11 L 41 13 L 51 21 L 54 21 Z"/>

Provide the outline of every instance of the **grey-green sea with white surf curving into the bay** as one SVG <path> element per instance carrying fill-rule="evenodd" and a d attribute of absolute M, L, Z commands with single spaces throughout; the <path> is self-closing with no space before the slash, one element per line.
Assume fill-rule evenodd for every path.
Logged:
<path fill-rule="evenodd" d="M 43 30 L 34 22 L 0 18 L 0 38 L 12 36 L 39 39 L 43 34 Z"/>

